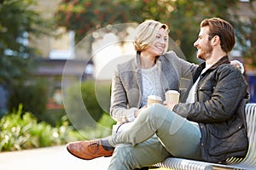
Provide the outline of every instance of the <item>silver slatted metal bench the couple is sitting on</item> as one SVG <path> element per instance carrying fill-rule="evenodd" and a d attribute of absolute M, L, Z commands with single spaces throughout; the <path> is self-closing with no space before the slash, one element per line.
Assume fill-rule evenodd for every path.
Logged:
<path fill-rule="evenodd" d="M 166 167 L 177 170 L 222 170 L 222 169 L 256 169 L 256 104 L 246 105 L 247 136 L 249 146 L 247 156 L 244 159 L 230 158 L 227 165 L 210 163 L 205 161 L 193 161 L 183 158 L 169 157 L 165 161 L 157 163 L 154 167 Z"/>

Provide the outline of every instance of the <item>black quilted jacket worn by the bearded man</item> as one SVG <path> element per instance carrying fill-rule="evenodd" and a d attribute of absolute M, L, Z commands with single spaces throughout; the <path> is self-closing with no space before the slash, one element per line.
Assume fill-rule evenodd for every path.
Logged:
<path fill-rule="evenodd" d="M 198 68 L 194 81 L 204 67 L 202 64 Z M 173 111 L 199 122 L 203 160 L 220 162 L 231 156 L 246 156 L 244 107 L 248 97 L 247 82 L 241 72 L 230 65 L 228 56 L 201 75 L 195 92 L 195 103 L 175 105 Z"/>

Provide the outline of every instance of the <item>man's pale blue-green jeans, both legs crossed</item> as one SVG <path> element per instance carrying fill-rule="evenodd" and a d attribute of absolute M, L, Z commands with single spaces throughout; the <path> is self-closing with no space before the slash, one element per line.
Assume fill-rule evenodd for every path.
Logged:
<path fill-rule="evenodd" d="M 148 106 L 130 127 L 107 139 L 115 147 L 108 170 L 147 167 L 168 156 L 201 160 L 198 124 L 160 104 Z"/>

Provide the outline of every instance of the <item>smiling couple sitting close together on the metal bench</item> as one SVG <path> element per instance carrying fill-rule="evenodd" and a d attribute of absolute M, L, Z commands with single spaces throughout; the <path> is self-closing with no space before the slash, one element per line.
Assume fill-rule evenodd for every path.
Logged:
<path fill-rule="evenodd" d="M 107 138 L 67 144 L 73 156 L 112 156 L 110 170 L 147 167 L 169 156 L 210 162 L 246 156 L 247 82 L 230 65 L 233 27 L 219 18 L 201 21 L 194 43 L 197 57 L 205 60 L 199 66 L 166 53 L 167 32 L 168 27 L 157 21 L 137 27 L 137 57 L 119 65 L 113 77 L 111 116 L 122 125 Z M 149 94 L 165 99 L 166 89 L 178 90 L 180 78 L 191 73 L 192 83 L 181 103 L 147 106 Z M 121 129 L 124 122 L 131 123 Z"/>

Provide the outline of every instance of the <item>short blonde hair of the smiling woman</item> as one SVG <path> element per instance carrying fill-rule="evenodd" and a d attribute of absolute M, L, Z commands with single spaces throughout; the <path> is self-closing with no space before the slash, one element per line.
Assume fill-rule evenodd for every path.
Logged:
<path fill-rule="evenodd" d="M 166 34 L 168 36 L 169 28 L 166 24 L 162 24 L 159 21 L 155 20 L 146 20 L 139 26 L 137 26 L 135 30 L 135 38 L 134 38 L 134 48 L 137 52 L 142 52 L 148 46 L 154 42 L 155 37 L 160 30 L 160 28 L 164 28 L 166 31 Z M 166 49 L 164 53 L 166 53 L 168 48 L 168 37 L 166 40 Z"/>

